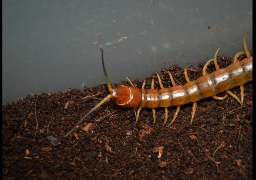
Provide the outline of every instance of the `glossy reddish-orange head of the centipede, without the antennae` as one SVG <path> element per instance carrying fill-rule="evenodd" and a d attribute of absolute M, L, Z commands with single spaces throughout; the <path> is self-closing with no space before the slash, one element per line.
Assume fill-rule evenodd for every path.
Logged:
<path fill-rule="evenodd" d="M 114 102 L 120 107 L 139 107 L 142 101 L 142 92 L 134 86 L 119 85 L 111 91 Z"/>

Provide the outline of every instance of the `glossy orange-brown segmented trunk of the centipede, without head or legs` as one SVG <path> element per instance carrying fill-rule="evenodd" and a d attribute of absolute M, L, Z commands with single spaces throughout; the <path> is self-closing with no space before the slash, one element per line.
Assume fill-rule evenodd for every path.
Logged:
<path fill-rule="evenodd" d="M 252 57 L 206 74 L 185 85 L 143 91 L 142 108 L 181 106 L 252 81 Z M 146 98 L 145 98 L 146 97 Z"/>

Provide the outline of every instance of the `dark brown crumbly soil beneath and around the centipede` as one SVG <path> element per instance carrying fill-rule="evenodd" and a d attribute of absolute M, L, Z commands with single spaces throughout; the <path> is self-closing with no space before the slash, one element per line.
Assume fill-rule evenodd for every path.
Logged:
<path fill-rule="evenodd" d="M 232 57 L 218 57 L 220 68 Z M 190 80 L 201 76 L 204 63 L 190 67 Z M 183 68 L 169 70 L 185 84 Z M 207 72 L 215 71 L 213 63 Z M 171 85 L 161 71 L 164 87 Z M 155 88 L 160 89 L 156 75 Z M 146 89 L 150 88 L 147 78 Z M 122 82 L 121 84 L 127 84 Z M 133 84 L 142 87 L 143 80 Z M 118 84 L 114 84 L 116 88 Z M 55 94 L 28 95 L 2 105 L 3 179 L 252 179 L 252 82 L 245 84 L 244 105 L 233 97 L 181 106 L 170 127 L 164 108 L 143 108 L 135 122 L 132 108 L 108 101 L 68 137 L 63 136 L 109 92 L 105 84 Z M 240 87 L 231 89 L 240 98 Z M 221 93 L 218 96 L 224 96 Z M 85 98 L 87 97 L 87 98 Z M 176 112 L 169 109 L 167 124 Z"/>

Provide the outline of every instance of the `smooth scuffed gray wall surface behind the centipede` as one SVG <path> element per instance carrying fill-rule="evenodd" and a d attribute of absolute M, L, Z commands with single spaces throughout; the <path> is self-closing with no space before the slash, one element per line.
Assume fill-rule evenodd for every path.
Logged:
<path fill-rule="evenodd" d="M 173 64 L 197 67 L 219 46 L 219 55 L 234 56 L 244 50 L 247 32 L 252 51 L 252 1 L 8 0 L 2 5 L 4 103 L 41 90 L 105 83 L 100 47 L 112 83 L 125 75 L 143 79 Z"/>

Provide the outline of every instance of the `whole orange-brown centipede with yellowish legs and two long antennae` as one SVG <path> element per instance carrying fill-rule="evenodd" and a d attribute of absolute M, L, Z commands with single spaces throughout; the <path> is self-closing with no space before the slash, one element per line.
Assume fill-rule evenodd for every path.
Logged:
<path fill-rule="evenodd" d="M 103 72 L 105 74 L 107 88 L 110 92 L 105 98 L 102 99 L 94 108 L 92 108 L 85 116 L 75 126 L 65 134 L 64 137 L 69 136 L 83 120 L 86 119 L 90 113 L 94 112 L 97 108 L 99 108 L 103 103 L 107 102 L 109 99 L 113 99 L 117 106 L 123 108 L 134 108 L 134 116 L 136 119 L 136 123 L 139 120 L 140 111 L 142 108 L 150 108 L 153 113 L 153 125 L 156 123 L 156 108 L 164 108 L 164 123 L 163 127 L 167 123 L 168 108 L 170 106 L 177 106 L 176 112 L 174 113 L 173 119 L 167 125 L 167 127 L 171 126 L 171 124 L 176 120 L 178 113 L 180 112 L 181 105 L 185 105 L 187 103 L 193 102 L 193 110 L 191 115 L 190 124 L 193 123 L 194 116 L 196 115 L 197 101 L 200 101 L 204 98 L 213 97 L 217 100 L 224 100 L 227 98 L 228 94 L 233 96 L 241 105 L 244 102 L 244 84 L 249 81 L 252 81 L 252 56 L 250 51 L 248 51 L 246 38 L 248 33 L 245 35 L 243 39 L 244 51 L 240 51 L 235 54 L 233 58 L 233 63 L 230 64 L 226 68 L 220 68 L 217 63 L 217 53 L 220 50 L 220 47 L 214 54 L 214 58 L 208 60 L 206 64 L 204 64 L 202 76 L 197 78 L 194 81 L 190 81 L 187 74 L 187 68 L 184 68 L 184 75 L 187 83 L 184 85 L 177 85 L 174 82 L 173 76 L 170 71 L 166 71 L 170 76 L 170 81 L 173 86 L 169 86 L 169 88 L 164 88 L 160 75 L 156 73 L 157 79 L 159 81 L 160 89 L 154 89 L 154 79 L 151 81 L 151 89 L 145 89 L 146 81 L 143 82 L 142 88 L 138 88 L 133 85 L 132 81 L 129 78 L 129 85 L 119 85 L 116 89 L 112 88 L 110 84 L 109 77 L 107 76 L 104 58 L 103 58 L 103 50 L 102 53 L 102 67 Z M 238 58 L 244 54 L 246 58 L 242 61 L 238 61 Z M 214 66 L 216 71 L 211 74 L 207 73 L 208 65 L 214 62 Z M 237 95 L 233 94 L 230 89 L 240 86 L 240 99 Z M 220 92 L 225 92 L 223 97 L 217 96 Z M 136 108 L 139 108 L 136 112 Z"/>

